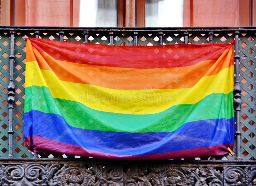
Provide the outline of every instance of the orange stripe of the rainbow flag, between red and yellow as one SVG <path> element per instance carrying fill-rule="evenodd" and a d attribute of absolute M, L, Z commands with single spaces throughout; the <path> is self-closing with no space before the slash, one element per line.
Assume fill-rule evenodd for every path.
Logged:
<path fill-rule="evenodd" d="M 53 59 L 32 48 L 40 69 L 51 70 L 62 81 L 91 84 L 110 89 L 180 89 L 193 87 L 204 76 L 215 75 L 231 64 L 233 51 L 226 50 L 217 61 L 202 61 L 175 68 L 121 68 L 95 66 Z M 47 62 L 46 62 L 47 61 Z M 189 81 L 188 81 L 189 80 Z"/>

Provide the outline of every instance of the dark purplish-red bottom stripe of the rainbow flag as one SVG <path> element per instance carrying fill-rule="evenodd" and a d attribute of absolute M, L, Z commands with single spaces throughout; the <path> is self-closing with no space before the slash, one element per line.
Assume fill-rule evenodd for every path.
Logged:
<path fill-rule="evenodd" d="M 32 144 L 32 137 L 24 138 L 26 144 Z M 77 156 L 88 156 L 93 158 L 103 158 L 103 159 L 123 159 L 123 160 L 156 160 L 156 159 L 180 159 L 180 158 L 195 158 L 195 157 L 209 157 L 209 156 L 220 156 L 228 154 L 227 147 L 230 147 L 230 144 L 220 144 L 211 147 L 203 147 L 196 149 L 188 149 L 182 151 L 172 151 L 158 154 L 149 154 L 149 155 L 121 155 L 103 153 L 99 151 L 87 150 L 83 147 L 72 145 L 69 143 L 62 143 L 54 141 L 41 136 L 33 136 L 33 140 L 36 143 L 28 147 L 30 151 L 33 152 L 49 152 L 49 153 L 62 153 L 66 154 L 67 149 L 70 151 L 70 154 Z M 52 151 L 49 151 L 51 149 Z M 231 145 L 233 149 L 233 144 Z"/>

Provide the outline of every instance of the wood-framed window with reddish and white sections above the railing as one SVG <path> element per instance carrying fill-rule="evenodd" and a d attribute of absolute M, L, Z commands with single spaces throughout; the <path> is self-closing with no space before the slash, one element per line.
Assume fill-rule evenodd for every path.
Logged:
<path fill-rule="evenodd" d="M 256 0 L 0 0 L 0 6 L 0 25 L 256 26 Z"/>

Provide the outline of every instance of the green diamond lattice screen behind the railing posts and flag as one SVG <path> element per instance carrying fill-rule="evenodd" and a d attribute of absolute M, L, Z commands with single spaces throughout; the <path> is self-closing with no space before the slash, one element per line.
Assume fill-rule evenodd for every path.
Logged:
<path fill-rule="evenodd" d="M 189 30 L 188 44 L 209 43 L 209 32 L 193 32 Z M 184 32 L 166 32 L 161 31 L 163 44 L 182 44 L 185 37 Z M 134 43 L 138 45 L 159 45 L 160 31 L 118 31 L 112 32 L 114 45 L 128 45 L 133 46 Z M 60 29 L 48 29 L 40 31 L 39 38 L 61 41 L 63 36 L 64 42 L 80 42 L 85 41 L 85 35 L 88 38 L 88 43 L 110 44 L 110 32 L 102 31 L 86 31 L 84 30 L 65 30 L 62 34 Z M 213 43 L 229 43 L 235 38 L 234 31 L 222 31 L 212 34 Z M 9 83 L 9 55 L 10 55 L 10 35 L 9 29 L 0 33 L 0 157 L 8 156 L 8 83 Z M 33 157 L 32 153 L 28 151 L 23 140 L 23 114 L 24 114 L 24 86 L 25 86 L 25 63 L 26 63 L 26 41 L 25 38 L 35 38 L 35 29 L 24 29 L 15 33 L 14 39 L 14 55 L 16 57 L 14 63 L 14 79 L 15 79 L 15 105 L 14 105 L 14 123 L 13 123 L 13 156 L 14 157 Z M 242 107 L 241 107 L 241 157 L 244 160 L 255 160 L 256 158 L 256 35 L 243 33 L 239 35 L 240 38 L 240 81 L 242 88 Z M 236 144 L 235 144 L 236 145 Z M 235 151 L 235 148 L 234 148 Z M 57 158 L 62 157 L 60 154 L 41 153 L 42 158 Z M 63 157 L 74 158 L 74 156 Z M 236 156 L 226 156 L 224 159 L 234 159 Z M 76 157 L 77 158 L 77 157 Z"/>

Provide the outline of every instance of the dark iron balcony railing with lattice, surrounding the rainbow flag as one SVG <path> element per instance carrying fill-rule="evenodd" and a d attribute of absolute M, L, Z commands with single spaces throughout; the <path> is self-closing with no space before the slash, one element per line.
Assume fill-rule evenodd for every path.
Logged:
<path fill-rule="evenodd" d="M 57 41 L 85 42 L 114 45 L 159 45 L 175 43 L 229 43 L 236 38 L 235 60 L 240 64 L 235 74 L 235 103 L 238 138 L 237 158 L 256 158 L 255 119 L 255 43 L 253 27 L 249 28 L 46 28 L 46 27 L 1 27 L 1 157 L 32 157 L 26 148 L 23 136 L 23 107 L 25 80 L 25 38 L 44 38 Z M 239 48 L 239 51 L 238 51 Z M 239 70 L 239 76 L 238 76 Z M 13 76 L 14 72 L 14 76 Z M 241 81 L 241 83 L 239 82 Z M 241 90 L 240 86 L 241 84 Z M 16 88 L 15 88 L 16 86 Z M 241 96 L 240 96 L 241 92 Z M 15 97 L 15 99 L 14 99 Z M 240 103 L 241 97 L 241 103 Z M 9 103 L 9 104 L 8 104 Z M 241 107 L 241 114 L 239 113 Z M 12 114 L 13 112 L 13 114 Z M 240 115 L 240 117 L 239 117 Z M 12 123 L 13 117 L 13 123 Z M 10 124 L 9 124 L 10 121 Z M 239 126 L 240 125 L 240 126 Z M 241 137 L 240 137 L 241 135 Z M 240 138 L 240 139 L 239 139 Z M 8 146 L 9 139 L 9 146 Z M 13 146 L 12 146 L 13 144 Z M 12 151 L 13 150 L 13 151 Z M 241 154 L 240 154 L 241 152 Z M 41 154 L 42 157 L 54 157 Z M 68 156 L 70 157 L 70 156 Z M 227 156 L 234 159 L 234 156 Z"/>

